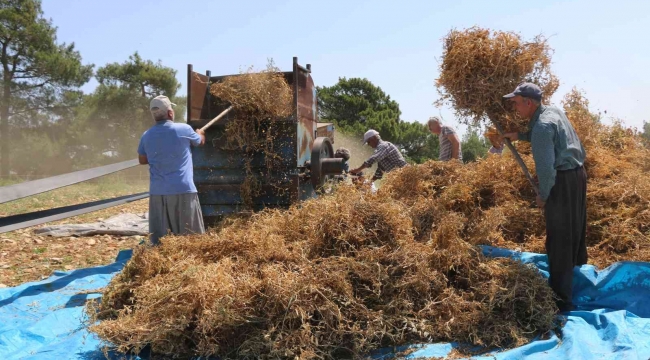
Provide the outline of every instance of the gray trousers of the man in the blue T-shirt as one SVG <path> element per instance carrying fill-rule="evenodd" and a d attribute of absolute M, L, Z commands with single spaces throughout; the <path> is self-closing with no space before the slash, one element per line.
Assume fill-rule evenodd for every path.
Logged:
<path fill-rule="evenodd" d="M 160 238 L 170 232 L 175 235 L 205 233 L 198 194 L 149 196 L 151 243 L 158 245 Z"/>

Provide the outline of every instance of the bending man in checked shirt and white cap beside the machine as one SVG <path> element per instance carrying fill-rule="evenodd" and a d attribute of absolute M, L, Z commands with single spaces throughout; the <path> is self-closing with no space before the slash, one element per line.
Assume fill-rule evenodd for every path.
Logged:
<path fill-rule="evenodd" d="M 372 164 L 377 163 L 377 171 L 375 171 L 375 175 L 372 177 L 372 181 L 375 181 L 381 179 L 384 173 L 407 165 L 406 160 L 404 160 L 404 157 L 397 146 L 393 143 L 382 140 L 381 136 L 379 136 L 379 132 L 376 130 L 370 129 L 366 131 L 363 135 L 363 143 L 367 143 L 375 149 L 375 153 L 372 154 L 372 156 L 361 166 L 350 170 L 350 174 L 356 175 L 363 169 L 367 169 L 371 167 Z"/>

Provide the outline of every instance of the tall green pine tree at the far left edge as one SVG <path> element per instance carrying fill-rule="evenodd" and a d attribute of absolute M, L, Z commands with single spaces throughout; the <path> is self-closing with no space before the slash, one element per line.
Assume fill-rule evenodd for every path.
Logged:
<path fill-rule="evenodd" d="M 69 91 L 92 76 L 74 44 L 58 44 L 38 0 L 0 0 L 0 175 L 9 174 L 10 124 L 65 107 Z M 79 95 L 79 94 L 77 94 Z M 46 119 L 53 120 L 53 119 Z"/>

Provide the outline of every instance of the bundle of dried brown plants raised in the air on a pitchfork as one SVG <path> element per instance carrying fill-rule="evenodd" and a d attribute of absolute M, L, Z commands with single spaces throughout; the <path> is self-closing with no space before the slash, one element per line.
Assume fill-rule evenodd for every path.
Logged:
<path fill-rule="evenodd" d="M 539 85 L 547 99 L 558 88 L 551 49 L 542 36 L 525 42 L 516 33 L 473 27 L 452 30 L 443 41 L 437 103 L 449 103 L 465 124 L 489 118 L 506 131 L 523 129 L 527 121 L 504 107 L 503 95 L 523 81 Z"/>

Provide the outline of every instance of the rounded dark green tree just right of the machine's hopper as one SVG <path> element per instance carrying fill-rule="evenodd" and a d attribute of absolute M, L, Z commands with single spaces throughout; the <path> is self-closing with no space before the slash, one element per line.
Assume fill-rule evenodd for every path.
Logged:
<path fill-rule="evenodd" d="M 317 87 L 319 118 L 332 121 L 350 133 L 373 128 L 382 138 L 398 138 L 399 105 L 368 79 L 339 78 L 330 87 Z"/>

